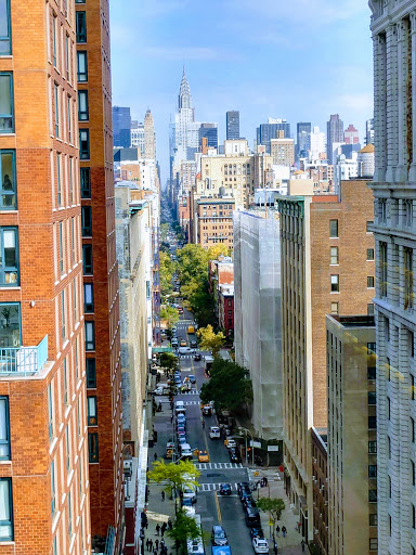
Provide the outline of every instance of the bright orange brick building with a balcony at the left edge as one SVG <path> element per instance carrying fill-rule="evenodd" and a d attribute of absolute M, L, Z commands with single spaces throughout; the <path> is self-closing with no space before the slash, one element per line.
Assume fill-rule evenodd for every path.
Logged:
<path fill-rule="evenodd" d="M 91 553 L 75 8 L 0 8 L 0 553 Z M 63 38 L 66 37 L 66 41 Z M 67 56 L 64 55 L 65 48 Z"/>

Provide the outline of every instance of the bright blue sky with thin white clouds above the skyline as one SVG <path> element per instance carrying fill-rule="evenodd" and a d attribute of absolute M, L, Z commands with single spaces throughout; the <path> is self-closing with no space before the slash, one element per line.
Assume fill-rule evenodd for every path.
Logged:
<path fill-rule="evenodd" d="M 185 64 L 195 119 L 239 109 L 249 140 L 268 117 L 312 121 L 329 114 L 363 135 L 373 116 L 373 46 L 364 0 L 113 0 L 113 103 L 155 120 L 162 183 L 170 115 Z"/>

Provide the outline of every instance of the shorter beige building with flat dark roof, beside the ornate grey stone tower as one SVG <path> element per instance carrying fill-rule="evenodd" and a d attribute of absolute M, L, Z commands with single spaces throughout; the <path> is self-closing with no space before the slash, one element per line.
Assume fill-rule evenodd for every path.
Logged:
<path fill-rule="evenodd" d="M 374 317 L 326 317 L 328 553 L 377 553 Z"/>

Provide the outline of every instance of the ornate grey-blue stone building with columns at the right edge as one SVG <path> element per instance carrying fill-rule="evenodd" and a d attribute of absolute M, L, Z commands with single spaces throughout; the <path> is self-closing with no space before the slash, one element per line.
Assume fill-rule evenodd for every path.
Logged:
<path fill-rule="evenodd" d="M 416 550 L 416 1 L 369 2 L 374 46 L 379 555 Z"/>

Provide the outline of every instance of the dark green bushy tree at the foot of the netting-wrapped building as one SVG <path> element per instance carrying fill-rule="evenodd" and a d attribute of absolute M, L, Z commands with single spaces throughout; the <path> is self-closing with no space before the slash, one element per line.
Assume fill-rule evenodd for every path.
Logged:
<path fill-rule="evenodd" d="M 213 401 L 216 410 L 235 413 L 244 403 L 252 401 L 252 384 L 247 369 L 216 357 L 209 375 L 209 382 L 200 388 L 203 403 Z"/>

